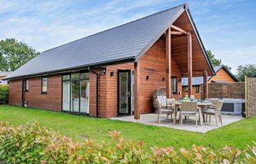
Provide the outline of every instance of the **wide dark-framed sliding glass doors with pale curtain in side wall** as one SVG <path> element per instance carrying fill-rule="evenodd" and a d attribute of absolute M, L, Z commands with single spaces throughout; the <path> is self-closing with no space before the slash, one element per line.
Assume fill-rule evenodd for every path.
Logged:
<path fill-rule="evenodd" d="M 62 110 L 89 114 L 89 73 L 62 76 Z"/>

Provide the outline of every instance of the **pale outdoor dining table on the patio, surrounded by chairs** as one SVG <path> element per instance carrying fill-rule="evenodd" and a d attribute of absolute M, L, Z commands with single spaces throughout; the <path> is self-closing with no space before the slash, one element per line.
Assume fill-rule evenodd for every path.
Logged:
<path fill-rule="evenodd" d="M 177 118 L 177 112 L 178 112 L 178 108 L 181 106 L 181 102 L 179 101 L 172 101 L 169 104 L 167 104 L 168 106 L 171 105 L 175 105 L 175 109 L 174 109 L 174 119 L 173 119 L 173 123 L 176 123 L 176 118 Z M 198 106 L 198 112 L 199 112 L 199 120 L 200 120 L 200 125 L 203 125 L 203 106 L 210 106 L 212 105 L 211 102 L 198 102 L 197 106 Z M 181 118 L 182 119 L 182 118 Z M 179 120 L 181 121 L 181 120 Z"/>

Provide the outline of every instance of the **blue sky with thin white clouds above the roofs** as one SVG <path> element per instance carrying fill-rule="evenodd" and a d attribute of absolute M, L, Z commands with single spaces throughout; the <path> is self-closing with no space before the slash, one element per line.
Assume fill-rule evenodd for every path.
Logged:
<path fill-rule="evenodd" d="M 184 2 L 206 49 L 233 73 L 239 65 L 256 63 L 254 0 L 0 0 L 0 39 L 48 50 Z"/>

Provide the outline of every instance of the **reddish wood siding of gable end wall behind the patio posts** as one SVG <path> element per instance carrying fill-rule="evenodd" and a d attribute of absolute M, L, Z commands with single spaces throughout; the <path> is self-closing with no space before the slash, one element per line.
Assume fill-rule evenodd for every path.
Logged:
<path fill-rule="evenodd" d="M 176 61 L 171 60 L 171 75 L 177 77 L 177 94 L 174 98 L 181 98 L 181 73 Z M 147 52 L 140 58 L 140 111 L 141 113 L 153 112 L 153 93 L 158 87 L 166 87 L 166 55 L 165 42 L 159 39 Z M 146 79 L 148 76 L 148 80 Z M 166 80 L 166 79 L 165 79 Z"/>

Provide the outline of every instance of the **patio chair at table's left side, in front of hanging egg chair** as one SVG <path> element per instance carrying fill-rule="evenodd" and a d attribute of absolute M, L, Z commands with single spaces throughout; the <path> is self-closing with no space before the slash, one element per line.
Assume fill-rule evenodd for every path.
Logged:
<path fill-rule="evenodd" d="M 161 98 L 161 96 L 158 96 L 156 102 L 157 102 L 157 107 L 158 107 L 158 109 L 159 109 L 159 110 L 157 111 L 157 114 L 158 114 L 158 117 L 157 117 L 158 123 L 161 123 L 161 115 L 162 115 L 162 114 L 166 114 L 167 117 L 168 117 L 168 115 L 170 115 L 170 114 L 174 114 L 174 110 L 173 110 L 173 109 L 168 109 L 166 99 Z M 166 117 L 166 118 L 167 118 L 167 117 Z M 171 116 L 171 117 L 172 117 L 172 116 Z"/>

